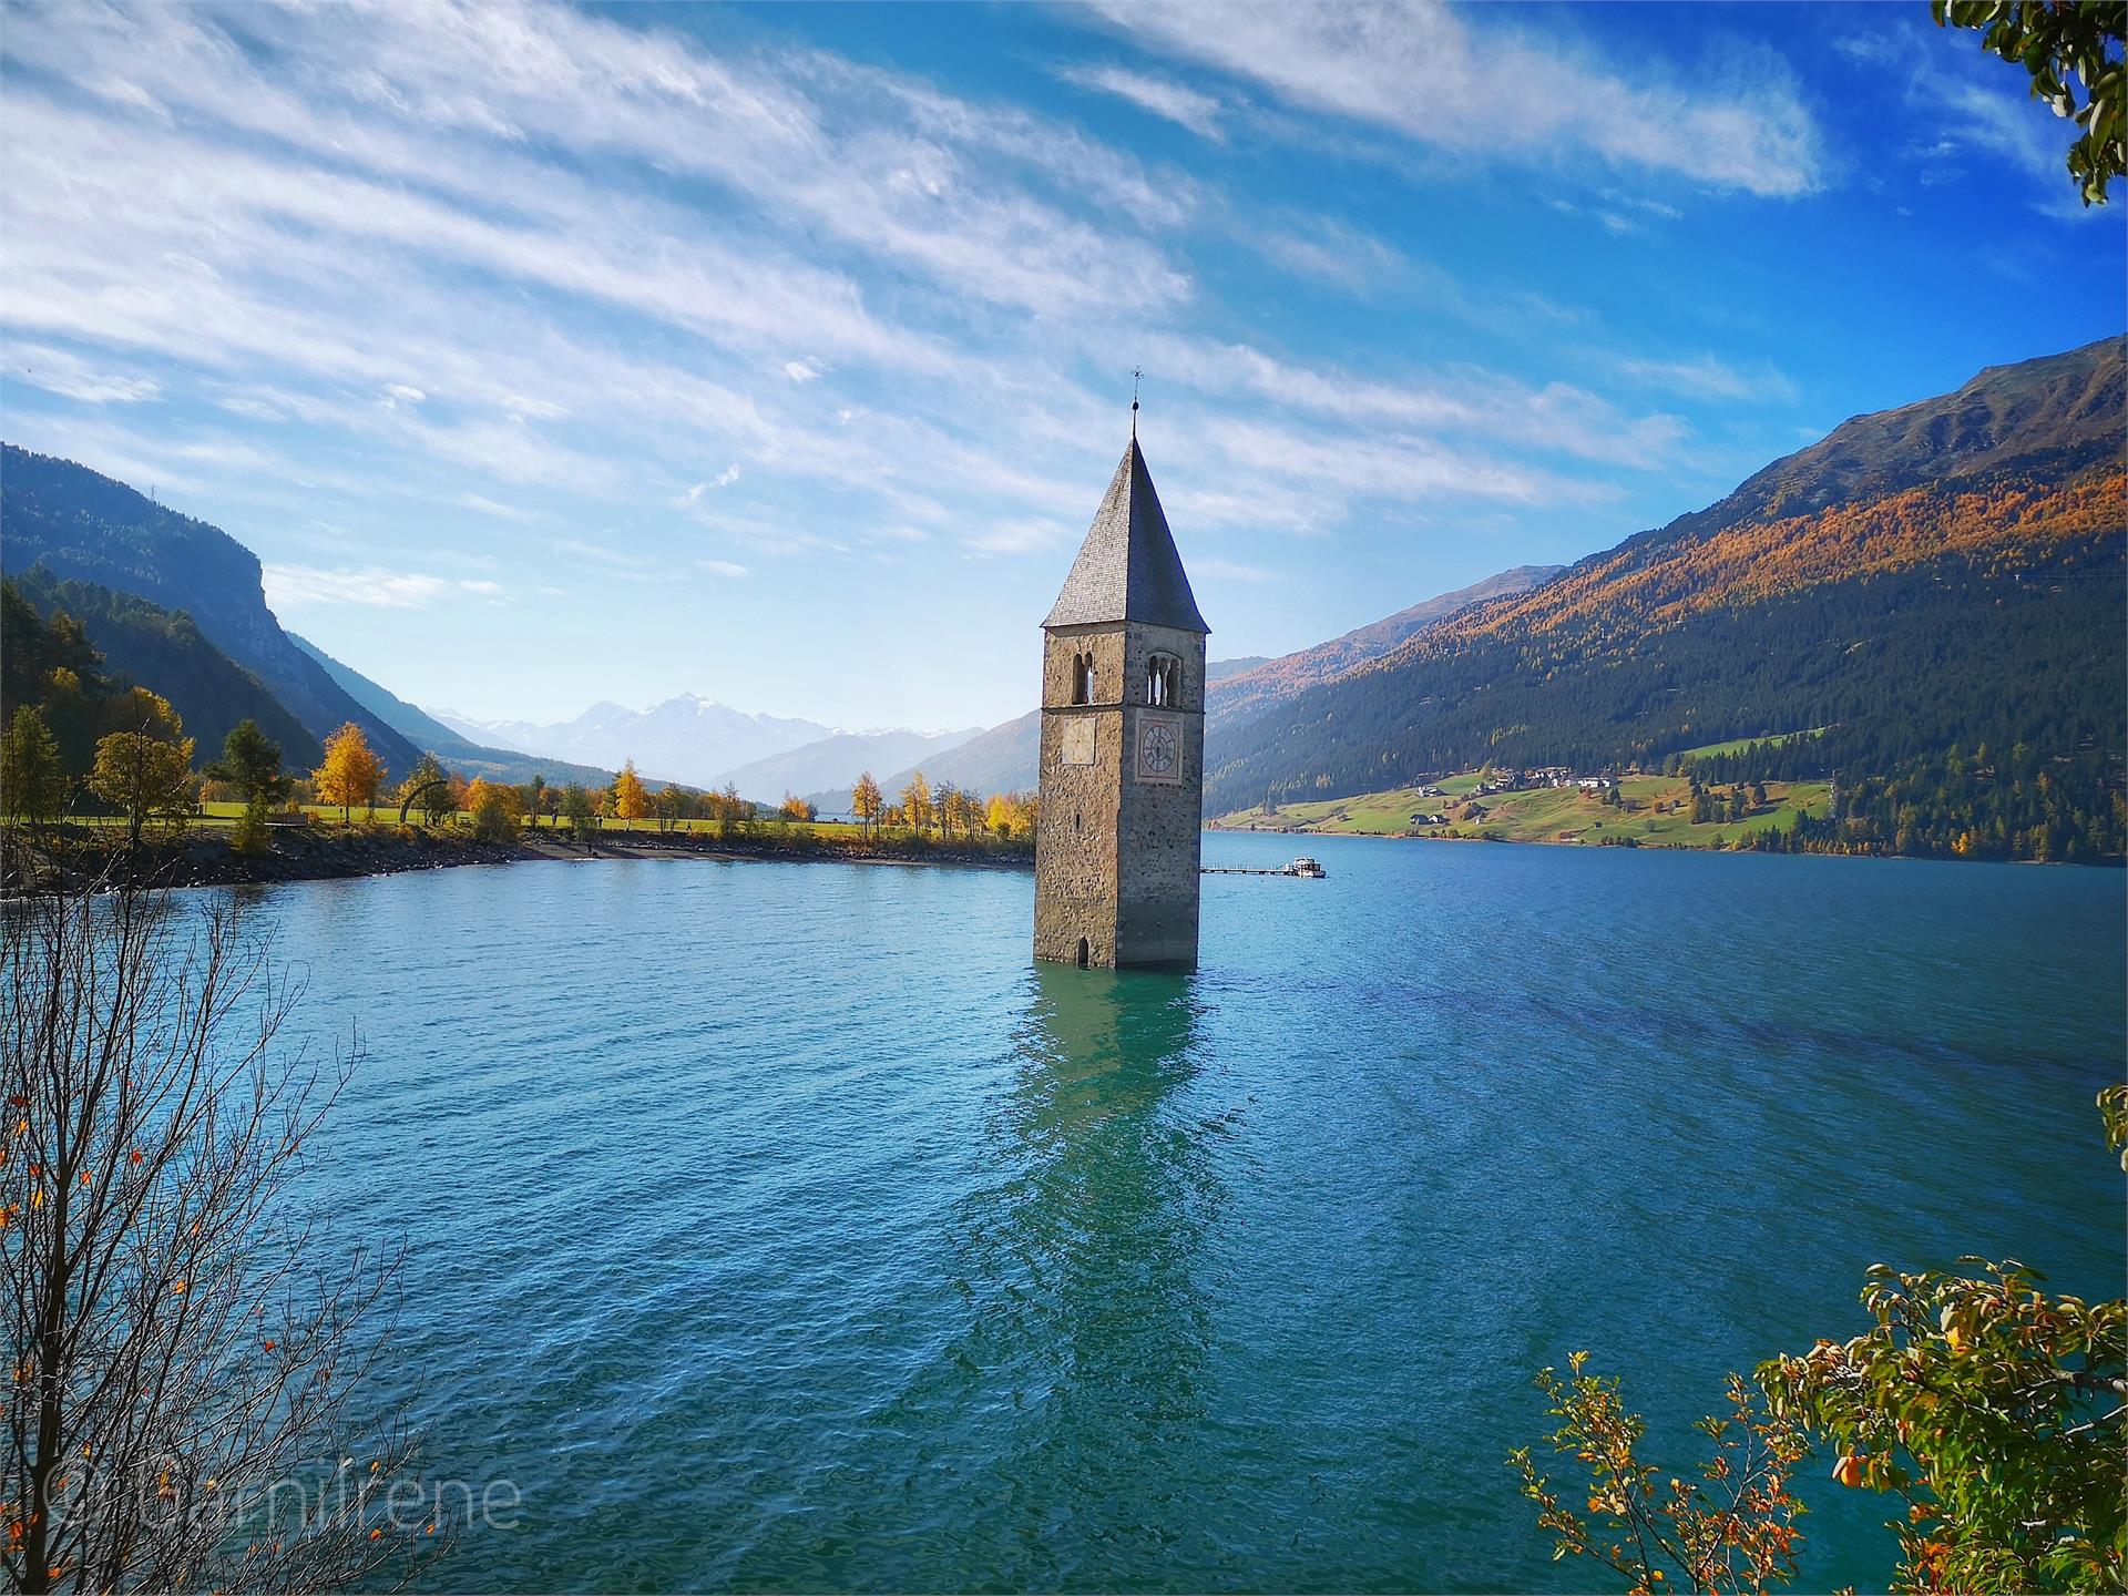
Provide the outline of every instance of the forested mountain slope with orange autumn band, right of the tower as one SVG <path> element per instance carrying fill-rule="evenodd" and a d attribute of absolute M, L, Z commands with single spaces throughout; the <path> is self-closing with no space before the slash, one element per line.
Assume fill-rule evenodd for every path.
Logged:
<path fill-rule="evenodd" d="M 1909 781 L 1896 809 L 1915 838 L 1958 824 L 1924 772 L 1962 749 L 1966 781 L 2045 789 L 2002 813 L 2002 851 L 2032 851 L 2009 832 L 2049 813 L 2117 851 L 2122 428 L 2119 340 L 1847 421 L 1719 504 L 1238 728 L 1207 807 L 1487 760 L 1653 764 L 1822 726 L 1783 762 L 1839 770 L 1851 792 Z"/>

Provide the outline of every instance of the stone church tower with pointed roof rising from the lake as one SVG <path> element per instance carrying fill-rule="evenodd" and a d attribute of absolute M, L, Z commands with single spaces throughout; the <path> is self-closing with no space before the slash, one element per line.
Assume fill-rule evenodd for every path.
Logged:
<path fill-rule="evenodd" d="M 1196 966 L 1207 632 L 1132 428 L 1043 621 L 1034 958 Z"/>

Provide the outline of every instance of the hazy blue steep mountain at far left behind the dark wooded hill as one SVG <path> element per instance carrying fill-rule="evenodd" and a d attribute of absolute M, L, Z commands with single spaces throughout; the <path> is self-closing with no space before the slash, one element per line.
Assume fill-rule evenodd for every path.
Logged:
<path fill-rule="evenodd" d="M 289 643 L 266 609 L 251 549 L 87 466 L 0 445 L 0 568 L 17 575 L 36 564 L 55 577 L 185 611 L 313 736 L 355 721 L 394 772 L 411 770 L 419 758 L 413 743 Z"/>

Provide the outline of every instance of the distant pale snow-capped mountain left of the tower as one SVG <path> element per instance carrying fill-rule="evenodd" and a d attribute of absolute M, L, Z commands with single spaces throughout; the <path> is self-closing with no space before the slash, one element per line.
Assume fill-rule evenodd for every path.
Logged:
<path fill-rule="evenodd" d="M 551 726 L 479 721 L 447 709 L 428 713 L 475 743 L 611 770 L 634 760 L 645 777 L 694 787 L 721 787 L 738 766 L 830 736 L 819 721 L 749 715 L 700 694 L 681 694 L 643 711 L 592 704 L 577 719 Z"/>

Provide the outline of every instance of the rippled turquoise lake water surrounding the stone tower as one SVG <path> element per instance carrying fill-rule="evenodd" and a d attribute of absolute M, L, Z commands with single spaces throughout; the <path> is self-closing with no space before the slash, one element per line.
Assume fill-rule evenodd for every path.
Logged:
<path fill-rule="evenodd" d="M 1307 847 L 1194 977 L 1032 968 L 1026 872 L 260 892 L 368 1049 L 313 1192 L 411 1245 L 430 1473 L 523 1494 L 430 1583 L 1592 1587 L 1502 1462 L 1541 1364 L 1681 1473 L 1871 1262 L 2122 1290 L 2119 872 Z M 1881 1587 L 1828 1466 L 1802 1587 Z"/>

